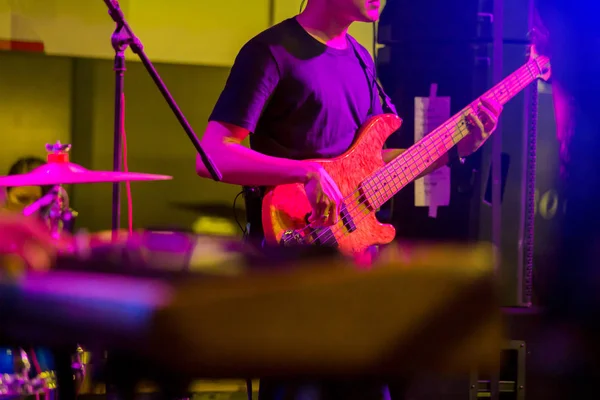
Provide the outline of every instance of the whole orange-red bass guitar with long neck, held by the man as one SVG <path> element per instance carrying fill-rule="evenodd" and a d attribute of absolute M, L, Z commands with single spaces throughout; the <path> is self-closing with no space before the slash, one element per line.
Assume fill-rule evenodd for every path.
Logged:
<path fill-rule="evenodd" d="M 506 104 L 533 81 L 547 80 L 550 74 L 549 58 L 536 54 L 532 46 L 528 62 L 482 97 Z M 318 228 L 308 223 L 312 209 L 303 185 L 268 188 L 262 204 L 266 242 L 334 246 L 347 255 L 390 243 L 396 231 L 393 226 L 380 223 L 375 211 L 468 134 L 466 116 L 477 113 L 479 102 L 478 98 L 387 164 L 381 155 L 383 145 L 400 128 L 402 120 L 394 114 L 370 118 L 344 154 L 327 160 L 309 160 L 323 166 L 343 195 L 338 223 Z"/>

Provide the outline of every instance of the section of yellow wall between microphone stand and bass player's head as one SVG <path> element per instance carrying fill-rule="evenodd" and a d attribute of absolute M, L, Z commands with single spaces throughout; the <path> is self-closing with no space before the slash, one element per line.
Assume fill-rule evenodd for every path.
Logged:
<path fill-rule="evenodd" d="M 131 0 L 129 21 L 154 61 L 231 66 L 268 27 L 270 0 Z"/>

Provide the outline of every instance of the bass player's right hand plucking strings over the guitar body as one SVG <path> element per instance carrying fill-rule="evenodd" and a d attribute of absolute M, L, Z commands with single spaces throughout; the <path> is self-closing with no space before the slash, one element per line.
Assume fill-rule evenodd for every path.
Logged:
<path fill-rule="evenodd" d="M 304 184 L 306 196 L 313 209 L 308 221 L 313 226 L 331 226 L 338 222 L 343 196 L 334 180 L 319 164 Z"/>

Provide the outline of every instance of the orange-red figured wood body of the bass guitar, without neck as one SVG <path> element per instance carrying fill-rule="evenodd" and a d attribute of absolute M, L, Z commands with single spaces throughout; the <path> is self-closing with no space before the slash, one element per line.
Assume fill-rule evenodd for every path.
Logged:
<path fill-rule="evenodd" d="M 352 228 L 349 229 L 342 218 L 337 225 L 328 228 L 329 235 L 335 237 L 335 244 L 343 254 L 361 254 L 369 246 L 394 240 L 394 227 L 377 220 L 375 210 L 365 204 L 358 189 L 365 179 L 383 167 L 381 152 L 385 141 L 401 124 L 402 120 L 393 114 L 372 117 L 361 127 L 354 145 L 347 152 L 332 159 L 310 160 L 323 166 L 345 198 L 344 205 L 347 217 L 352 220 Z M 262 206 L 266 242 L 282 244 L 291 232 L 303 232 L 306 236 L 302 236 L 307 239 L 304 243 L 313 243 L 312 239 L 320 232 L 317 230 L 311 234 L 308 228 L 309 233 L 306 234 L 307 216 L 311 211 L 302 184 L 281 185 L 267 190 Z"/>

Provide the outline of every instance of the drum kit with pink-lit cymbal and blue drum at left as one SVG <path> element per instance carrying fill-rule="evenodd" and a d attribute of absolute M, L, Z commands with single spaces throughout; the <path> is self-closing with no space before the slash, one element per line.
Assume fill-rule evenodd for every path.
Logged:
<path fill-rule="evenodd" d="M 29 173 L 0 177 L 0 187 L 42 186 L 51 189 L 25 207 L 23 214 L 37 216 L 54 239 L 65 232 L 73 233 L 77 212 L 71 209 L 63 185 L 158 181 L 172 179 L 165 175 L 134 172 L 93 171 L 69 161 L 70 144 L 46 145 L 47 163 Z M 74 379 L 83 384 L 90 354 L 78 345 L 72 356 Z M 57 388 L 53 354 L 48 349 L 21 347 L 0 348 L 0 398 L 50 395 Z"/>

